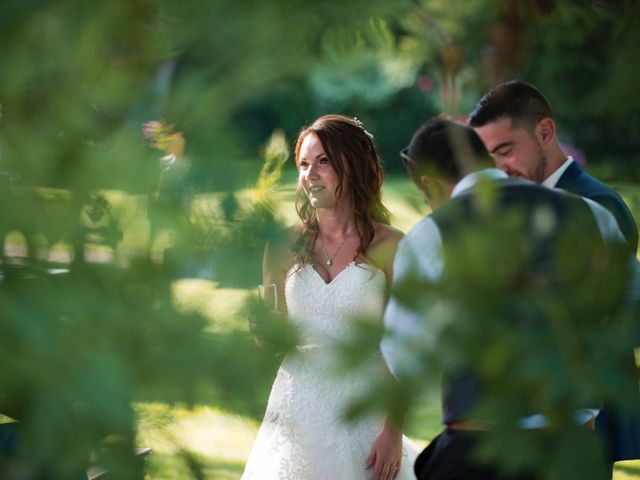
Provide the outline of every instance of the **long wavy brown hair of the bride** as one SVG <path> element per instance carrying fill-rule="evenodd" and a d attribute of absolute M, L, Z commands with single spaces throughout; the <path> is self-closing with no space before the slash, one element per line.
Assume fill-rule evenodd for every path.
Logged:
<path fill-rule="evenodd" d="M 360 235 L 357 256 L 366 257 L 367 248 L 375 236 L 375 222 L 389 224 L 389 210 L 382 204 L 382 181 L 384 173 L 380 158 L 373 143 L 373 136 L 362 123 L 342 115 L 324 115 L 309 127 L 304 128 L 296 142 L 296 165 L 300 168 L 300 147 L 307 135 L 317 135 L 331 161 L 338 179 L 336 197 L 342 195 L 342 185 L 346 179 L 349 201 L 353 206 L 355 224 Z M 292 253 L 294 263 L 300 266 L 312 260 L 313 248 L 318 238 L 319 227 L 316 209 L 298 183 L 296 211 L 300 217 Z"/>

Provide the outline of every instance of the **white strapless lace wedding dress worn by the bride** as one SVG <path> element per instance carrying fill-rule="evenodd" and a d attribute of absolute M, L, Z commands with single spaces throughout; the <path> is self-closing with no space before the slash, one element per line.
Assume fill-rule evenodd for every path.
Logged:
<path fill-rule="evenodd" d="M 362 372 L 338 374 L 335 345 L 353 333 L 354 319 L 382 321 L 385 274 L 352 262 L 330 283 L 311 265 L 294 266 L 285 296 L 299 347 L 282 361 L 242 480 L 368 480 L 365 464 L 382 430 L 380 417 L 347 423 L 350 399 L 367 391 Z M 372 352 L 369 368 L 382 371 Z M 369 380 L 368 380 L 369 379 Z M 417 448 L 403 439 L 401 480 L 413 479 Z"/>

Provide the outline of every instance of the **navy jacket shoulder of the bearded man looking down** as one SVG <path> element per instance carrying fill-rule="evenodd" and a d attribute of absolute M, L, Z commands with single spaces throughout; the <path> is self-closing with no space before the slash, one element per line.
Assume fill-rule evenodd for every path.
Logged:
<path fill-rule="evenodd" d="M 572 162 L 565 170 L 556 187 L 593 200 L 609 210 L 616 217 L 618 226 L 631 251 L 634 254 L 637 252 L 638 227 L 629 207 L 618 192 L 591 175 L 587 175 L 576 162 Z"/>

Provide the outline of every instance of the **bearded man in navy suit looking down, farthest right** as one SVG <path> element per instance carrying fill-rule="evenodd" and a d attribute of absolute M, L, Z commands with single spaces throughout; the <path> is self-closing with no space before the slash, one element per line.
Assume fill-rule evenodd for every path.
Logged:
<path fill-rule="evenodd" d="M 629 251 L 636 255 L 638 228 L 629 208 L 615 190 L 586 174 L 565 154 L 558 142 L 551 105 L 537 88 L 519 80 L 492 88 L 469 115 L 469 125 L 482 138 L 496 165 L 508 175 L 567 190 L 609 210 Z M 640 414 L 620 415 L 605 404 L 596 428 L 605 441 L 610 462 L 640 458 Z"/>

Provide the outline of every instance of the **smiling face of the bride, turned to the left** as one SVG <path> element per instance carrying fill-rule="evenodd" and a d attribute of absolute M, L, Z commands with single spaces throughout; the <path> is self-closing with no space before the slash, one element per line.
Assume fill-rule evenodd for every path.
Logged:
<path fill-rule="evenodd" d="M 336 189 L 340 179 L 315 133 L 309 133 L 302 141 L 298 169 L 298 182 L 311 205 L 315 208 L 335 208 L 339 200 Z M 342 196 L 344 194 L 343 187 Z"/>

